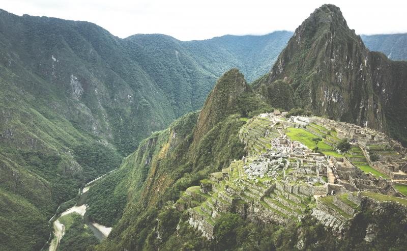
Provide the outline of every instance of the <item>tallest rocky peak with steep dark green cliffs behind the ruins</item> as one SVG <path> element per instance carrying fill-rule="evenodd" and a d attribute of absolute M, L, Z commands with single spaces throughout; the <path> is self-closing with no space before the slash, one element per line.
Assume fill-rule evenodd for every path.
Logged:
<path fill-rule="evenodd" d="M 339 8 L 324 5 L 296 29 L 253 89 L 271 105 L 303 107 L 387 132 L 407 144 L 407 62 L 369 51 Z"/>

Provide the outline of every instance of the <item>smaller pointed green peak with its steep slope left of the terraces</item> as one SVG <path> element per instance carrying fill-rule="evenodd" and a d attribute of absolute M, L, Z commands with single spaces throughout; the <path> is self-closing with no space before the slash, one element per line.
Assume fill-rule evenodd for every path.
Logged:
<path fill-rule="evenodd" d="M 176 201 L 180 191 L 244 154 L 238 139 L 246 121 L 241 116 L 254 110 L 271 107 L 255 98 L 243 75 L 232 69 L 217 81 L 200 113 L 185 115 L 144 140 L 124 161 L 122 169 L 129 165 L 132 169 L 127 180 L 129 202 L 109 235 L 111 241 L 100 248 L 141 248 L 154 228 L 149 217 L 157 208 Z"/>

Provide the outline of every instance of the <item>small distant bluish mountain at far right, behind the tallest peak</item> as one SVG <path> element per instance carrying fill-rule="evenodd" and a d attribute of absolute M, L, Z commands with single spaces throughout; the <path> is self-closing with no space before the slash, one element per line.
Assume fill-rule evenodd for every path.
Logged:
<path fill-rule="evenodd" d="M 391 60 L 407 60 L 407 34 L 361 35 L 366 47 L 383 52 Z"/>

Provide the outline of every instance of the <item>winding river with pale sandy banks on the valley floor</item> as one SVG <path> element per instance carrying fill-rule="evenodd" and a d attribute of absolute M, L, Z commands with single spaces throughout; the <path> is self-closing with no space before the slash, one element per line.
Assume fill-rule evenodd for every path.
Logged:
<path fill-rule="evenodd" d="M 76 213 L 82 215 L 84 224 L 86 224 L 86 226 L 88 226 L 92 230 L 95 237 L 98 238 L 99 240 L 101 240 L 109 235 L 112 228 L 108 228 L 108 227 L 100 225 L 96 222 L 92 222 L 90 220 L 89 215 L 86 214 L 86 204 L 85 203 L 86 203 L 87 192 L 95 184 L 95 182 L 100 180 L 104 176 L 106 176 L 112 172 L 115 172 L 115 171 L 117 171 L 117 169 L 114 169 L 114 170 L 92 180 L 91 182 L 86 183 L 82 189 L 79 188 L 78 194 L 80 195 L 80 198 L 79 198 L 78 202 L 76 203 L 76 205 L 69 208 L 65 212 L 61 213 L 61 215 L 55 221 L 53 221 L 53 220 L 56 217 L 56 213 L 54 214 L 54 216 L 52 216 L 51 219 L 49 219 L 50 223 L 53 221 L 52 226 L 53 226 L 53 234 L 54 234 L 54 237 L 52 238 L 52 240 L 51 240 L 52 233 L 50 234 L 49 240 L 46 243 L 46 244 L 49 244 L 49 251 L 56 251 L 61 239 L 63 238 L 63 236 L 65 234 L 65 226 L 60 222 L 59 219 L 62 216 L 73 213 L 73 212 L 76 212 Z M 59 208 L 60 207 L 58 207 L 58 209 Z M 56 211 L 58 211 L 58 209 Z M 45 247 L 45 245 L 44 245 L 44 247 Z M 44 249 L 44 247 L 41 248 L 41 251 Z"/>

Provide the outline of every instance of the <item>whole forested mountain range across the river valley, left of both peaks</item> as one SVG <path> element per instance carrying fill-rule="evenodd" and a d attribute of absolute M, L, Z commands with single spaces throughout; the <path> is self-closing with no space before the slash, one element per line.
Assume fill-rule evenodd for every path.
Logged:
<path fill-rule="evenodd" d="M 199 109 L 222 72 L 246 67 L 257 77 L 250 55 L 264 51 L 270 65 L 288 36 L 120 39 L 89 22 L 0 10 L 0 196 L 8 205 L 0 249 L 39 249 L 47 220 L 81 185 L 118 168 L 151 132 Z"/>

